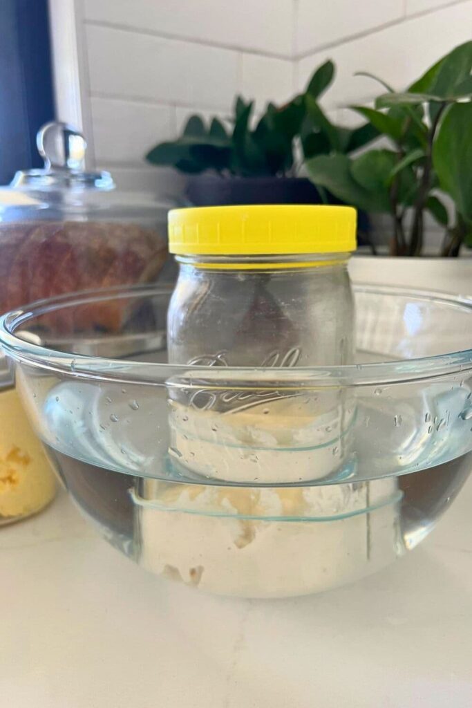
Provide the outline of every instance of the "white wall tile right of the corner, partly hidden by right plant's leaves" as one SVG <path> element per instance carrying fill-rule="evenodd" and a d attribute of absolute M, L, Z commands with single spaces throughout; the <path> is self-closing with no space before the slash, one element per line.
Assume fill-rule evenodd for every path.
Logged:
<path fill-rule="evenodd" d="M 328 108 L 366 102 L 383 91 L 372 79 L 354 76 L 358 71 L 372 72 L 394 89 L 404 89 L 439 57 L 469 40 L 471 30 L 472 0 L 408 19 L 301 59 L 299 89 L 328 58 L 337 67 L 335 81 L 323 96 L 323 105 Z"/>

